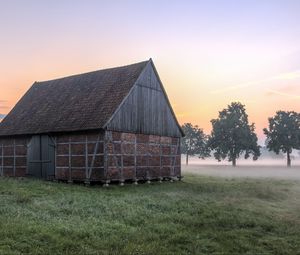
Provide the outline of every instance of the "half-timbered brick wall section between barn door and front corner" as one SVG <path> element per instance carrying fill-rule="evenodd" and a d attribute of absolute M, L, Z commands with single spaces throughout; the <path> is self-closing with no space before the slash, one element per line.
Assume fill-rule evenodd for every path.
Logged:
<path fill-rule="evenodd" d="M 55 137 L 58 180 L 104 179 L 104 131 Z"/>

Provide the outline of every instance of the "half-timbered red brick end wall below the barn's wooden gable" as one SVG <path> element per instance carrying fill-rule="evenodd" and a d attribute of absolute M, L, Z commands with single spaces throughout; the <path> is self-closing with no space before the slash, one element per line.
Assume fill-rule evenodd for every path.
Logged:
<path fill-rule="evenodd" d="M 107 179 L 181 176 L 180 138 L 107 131 Z"/>

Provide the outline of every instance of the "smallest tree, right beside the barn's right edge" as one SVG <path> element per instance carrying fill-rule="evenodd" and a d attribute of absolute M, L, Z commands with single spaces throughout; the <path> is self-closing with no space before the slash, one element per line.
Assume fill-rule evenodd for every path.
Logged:
<path fill-rule="evenodd" d="M 191 123 L 182 125 L 185 137 L 181 139 L 181 152 L 186 154 L 186 164 L 189 163 L 189 156 L 198 155 L 200 158 L 209 157 L 209 149 L 206 146 L 207 136 L 197 125 Z"/>

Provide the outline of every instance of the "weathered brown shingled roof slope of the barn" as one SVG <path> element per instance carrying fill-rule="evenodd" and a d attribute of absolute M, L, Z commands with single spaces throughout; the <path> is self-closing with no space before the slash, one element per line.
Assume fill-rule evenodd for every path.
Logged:
<path fill-rule="evenodd" d="M 147 63 L 35 82 L 0 123 L 0 136 L 102 128 Z"/>

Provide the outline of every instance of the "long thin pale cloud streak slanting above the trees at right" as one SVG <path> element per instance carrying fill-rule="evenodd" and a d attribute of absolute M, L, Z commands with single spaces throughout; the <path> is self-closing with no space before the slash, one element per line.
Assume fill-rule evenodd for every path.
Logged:
<path fill-rule="evenodd" d="M 279 75 L 276 76 L 272 76 L 272 77 L 268 77 L 262 80 L 256 80 L 256 81 L 250 81 L 250 82 L 245 82 L 245 83 L 241 83 L 235 86 L 228 86 L 222 89 L 216 89 L 216 90 L 211 90 L 210 93 L 211 94 L 220 94 L 220 93 L 224 93 L 224 92 L 228 92 L 228 91 L 233 91 L 233 90 L 238 90 L 238 89 L 243 89 L 243 88 L 247 88 L 253 85 L 259 85 L 261 83 L 265 83 L 265 82 L 270 82 L 270 81 L 278 81 L 278 80 L 295 80 L 300 78 L 300 70 L 296 70 L 296 71 L 292 71 L 292 72 L 287 72 L 287 73 L 281 73 Z"/>

